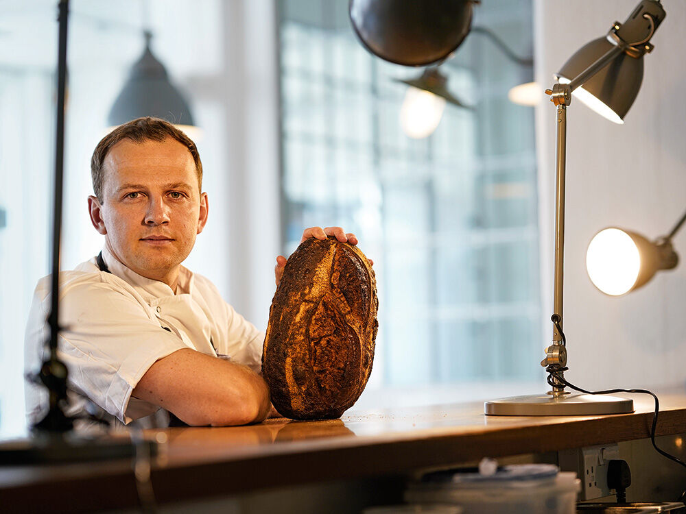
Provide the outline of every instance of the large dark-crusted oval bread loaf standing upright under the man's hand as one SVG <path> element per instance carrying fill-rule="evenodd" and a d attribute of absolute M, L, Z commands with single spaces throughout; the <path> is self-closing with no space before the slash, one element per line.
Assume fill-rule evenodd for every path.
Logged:
<path fill-rule="evenodd" d="M 269 315 L 262 373 L 293 419 L 331 419 L 362 394 L 377 336 L 374 271 L 360 250 L 309 238 L 288 258 Z"/>

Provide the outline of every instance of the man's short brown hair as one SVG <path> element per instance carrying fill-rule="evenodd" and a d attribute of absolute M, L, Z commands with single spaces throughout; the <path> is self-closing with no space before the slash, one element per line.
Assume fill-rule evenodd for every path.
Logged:
<path fill-rule="evenodd" d="M 143 143 L 146 140 L 163 141 L 167 138 L 177 140 L 191 152 L 193 162 L 196 163 L 196 172 L 198 173 L 198 191 L 202 191 L 202 162 L 200 162 L 200 154 L 198 154 L 196 143 L 193 143 L 191 138 L 174 127 L 169 121 L 145 117 L 119 125 L 119 127 L 115 128 L 115 130 L 97 143 L 91 158 L 91 178 L 93 179 L 93 192 L 98 201 L 102 204 L 103 164 L 107 154 L 114 145 L 123 139 L 130 139 L 135 143 Z"/>

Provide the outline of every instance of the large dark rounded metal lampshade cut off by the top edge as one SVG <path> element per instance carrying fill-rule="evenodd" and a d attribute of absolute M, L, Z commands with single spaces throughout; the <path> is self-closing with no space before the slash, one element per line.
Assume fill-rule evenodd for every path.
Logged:
<path fill-rule="evenodd" d="M 375 56 L 427 66 L 455 51 L 471 27 L 471 0 L 351 0 L 355 33 Z"/>

